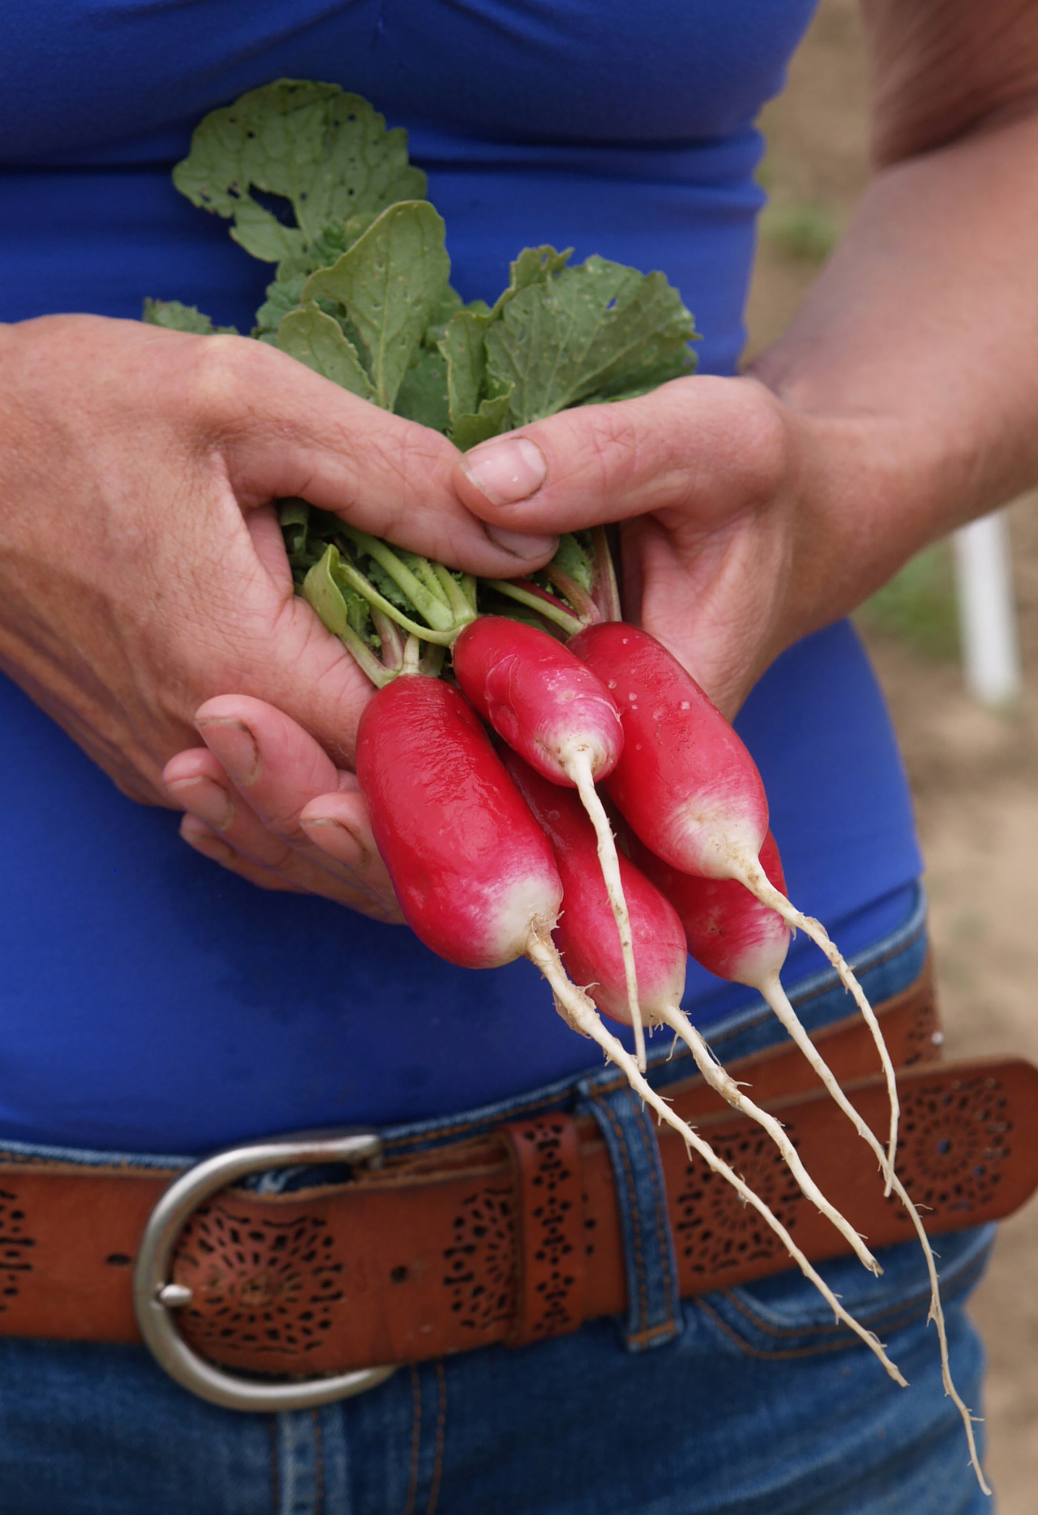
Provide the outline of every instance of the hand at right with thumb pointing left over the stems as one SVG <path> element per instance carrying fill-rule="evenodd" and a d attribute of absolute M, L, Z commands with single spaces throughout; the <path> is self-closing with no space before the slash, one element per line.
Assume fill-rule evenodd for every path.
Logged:
<path fill-rule="evenodd" d="M 732 717 L 789 642 L 849 608 L 826 514 L 838 458 L 756 380 L 696 377 L 483 442 L 455 477 L 509 530 L 623 523 L 626 618 Z"/>

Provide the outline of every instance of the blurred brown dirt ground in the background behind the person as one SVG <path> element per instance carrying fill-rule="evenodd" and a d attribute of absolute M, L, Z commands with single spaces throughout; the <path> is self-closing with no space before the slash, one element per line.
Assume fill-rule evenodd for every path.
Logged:
<path fill-rule="evenodd" d="M 786 94 L 765 114 L 762 223 L 752 350 L 791 318 L 865 180 L 867 79 L 853 0 L 823 0 Z M 862 632 L 897 726 L 927 864 L 947 1050 L 1038 1062 L 1038 494 L 1011 511 L 1027 689 L 994 715 L 962 691 L 950 580 Z M 929 579 L 933 576 L 929 574 Z M 944 597 L 944 598 L 941 598 Z M 935 624 L 938 621 L 949 626 Z M 926 635 L 920 635 L 920 630 Z M 974 1300 L 988 1342 L 988 1467 L 999 1515 L 1038 1510 L 1038 1201 L 1002 1230 Z"/>

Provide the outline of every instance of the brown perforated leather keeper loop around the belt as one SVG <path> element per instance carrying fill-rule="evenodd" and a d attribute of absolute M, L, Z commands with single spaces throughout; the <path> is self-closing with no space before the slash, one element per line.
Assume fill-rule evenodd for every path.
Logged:
<path fill-rule="evenodd" d="M 508 1344 L 524 1347 L 583 1324 L 583 1157 L 568 1115 L 512 1121 L 502 1133 L 518 1191 L 518 1298 Z"/>

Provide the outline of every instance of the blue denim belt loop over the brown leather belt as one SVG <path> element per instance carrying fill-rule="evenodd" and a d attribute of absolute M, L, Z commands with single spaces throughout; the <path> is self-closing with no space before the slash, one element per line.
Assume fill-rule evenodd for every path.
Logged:
<path fill-rule="evenodd" d="M 594 1115 L 612 1164 L 627 1274 L 627 1351 L 664 1347 L 685 1321 L 656 1127 L 626 1086 L 600 1089 L 586 1079 L 577 1098 L 579 1114 Z"/>

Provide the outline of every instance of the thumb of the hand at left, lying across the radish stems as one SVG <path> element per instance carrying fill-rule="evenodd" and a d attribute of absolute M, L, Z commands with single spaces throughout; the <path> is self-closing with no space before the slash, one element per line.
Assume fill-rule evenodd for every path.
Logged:
<path fill-rule="evenodd" d="M 555 532 L 500 535 L 452 485 L 458 448 L 426 426 L 361 400 L 267 342 L 205 338 L 192 405 L 226 459 L 239 501 L 300 495 L 353 526 L 453 568 L 502 577 L 555 551 Z"/>

